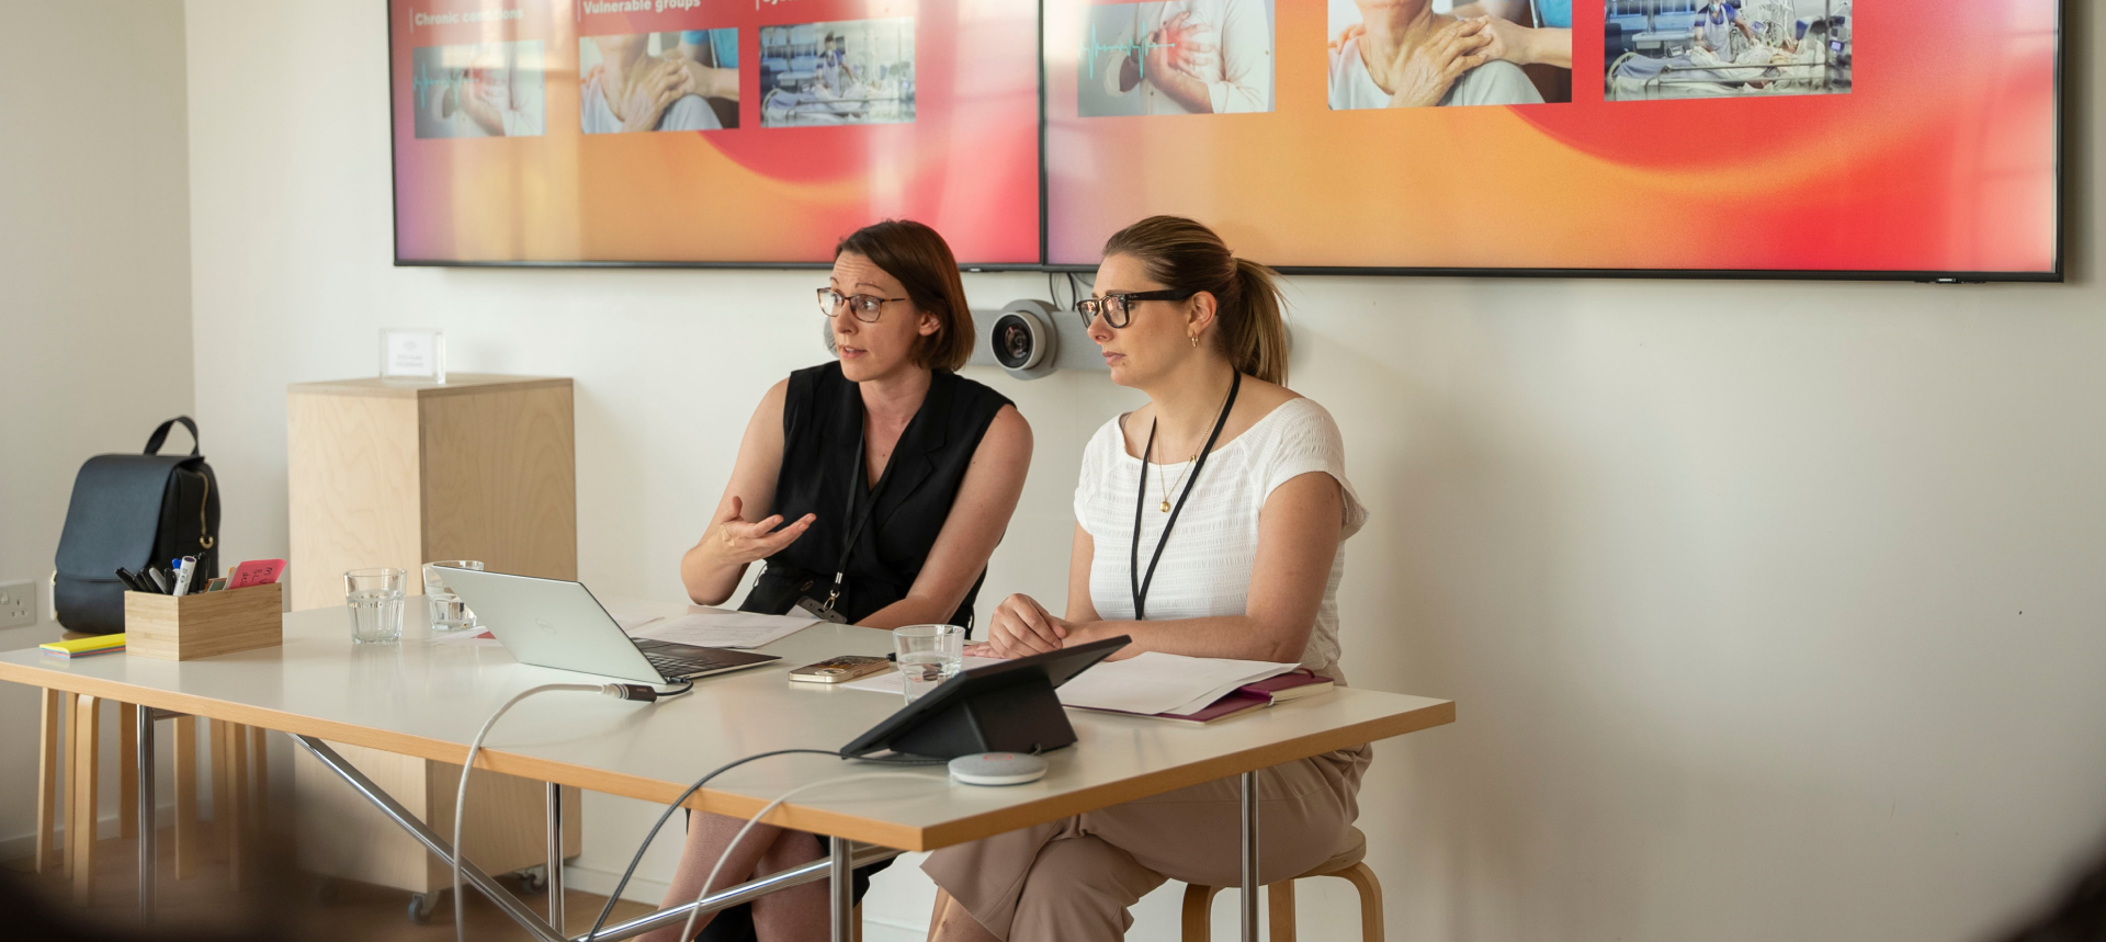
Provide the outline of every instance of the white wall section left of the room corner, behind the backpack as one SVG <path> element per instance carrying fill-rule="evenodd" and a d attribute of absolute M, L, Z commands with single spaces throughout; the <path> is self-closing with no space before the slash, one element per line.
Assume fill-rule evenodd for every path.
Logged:
<path fill-rule="evenodd" d="M 0 582 L 36 580 L 42 613 L 74 472 L 192 405 L 183 4 L 8 4 L 6 34 Z M 40 615 L 0 649 L 57 639 Z M 27 853 L 36 719 L 36 691 L 0 685 L 0 856 Z M 105 794 L 114 813 L 116 776 Z"/>

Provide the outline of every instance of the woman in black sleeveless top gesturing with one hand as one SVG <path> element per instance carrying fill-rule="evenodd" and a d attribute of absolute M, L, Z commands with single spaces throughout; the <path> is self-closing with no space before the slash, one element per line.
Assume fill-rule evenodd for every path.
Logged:
<path fill-rule="evenodd" d="M 680 561 L 687 592 L 722 605 L 746 567 L 767 563 L 741 611 L 971 630 L 988 556 L 1024 491 L 1032 430 L 1015 405 L 956 373 L 973 350 L 958 263 L 935 230 L 882 221 L 834 247 L 817 295 L 836 358 L 790 373 L 754 409 L 716 523 Z M 701 894 L 743 824 L 693 818 L 668 906 Z M 813 835 L 762 824 L 712 889 L 823 856 Z M 857 870 L 857 900 L 874 870 Z M 826 938 L 826 883 L 762 896 L 750 915 L 724 910 L 703 938 L 756 931 Z M 647 938 L 672 942 L 678 929 Z"/>

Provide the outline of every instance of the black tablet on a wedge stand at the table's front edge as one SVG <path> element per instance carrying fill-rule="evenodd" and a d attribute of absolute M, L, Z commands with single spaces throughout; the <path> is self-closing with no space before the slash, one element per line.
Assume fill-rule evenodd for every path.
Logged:
<path fill-rule="evenodd" d="M 937 689 L 885 719 L 845 757 L 878 750 L 931 759 L 975 752 L 1051 752 L 1074 744 L 1074 727 L 1053 687 L 1127 647 L 1125 634 L 1061 651 L 1036 653 L 984 668 L 960 670 Z"/>

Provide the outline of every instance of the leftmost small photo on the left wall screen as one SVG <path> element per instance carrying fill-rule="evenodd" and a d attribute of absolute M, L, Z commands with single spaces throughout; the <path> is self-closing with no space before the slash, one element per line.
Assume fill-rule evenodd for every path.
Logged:
<path fill-rule="evenodd" d="M 417 137 L 548 133 L 541 42 L 470 42 L 411 51 Z"/>

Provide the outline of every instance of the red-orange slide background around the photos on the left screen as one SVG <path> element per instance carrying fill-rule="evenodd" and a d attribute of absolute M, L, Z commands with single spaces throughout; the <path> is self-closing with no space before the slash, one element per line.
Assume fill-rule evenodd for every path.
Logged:
<path fill-rule="evenodd" d="M 415 25 L 415 13 L 518 11 Z M 655 8 L 655 4 L 653 4 Z M 760 126 L 760 30 L 914 17 L 912 124 Z M 1024 0 L 701 0 L 588 15 L 583 0 L 390 0 L 396 259 L 823 263 L 882 217 L 962 263 L 1038 263 L 1038 11 Z M 583 135 L 577 40 L 739 30 L 739 126 Z M 548 133 L 417 139 L 411 51 L 541 40 Z"/>

